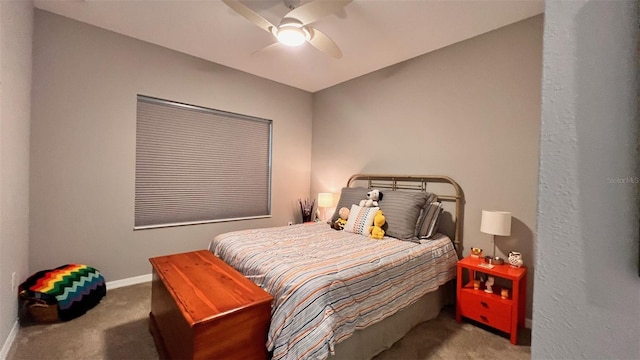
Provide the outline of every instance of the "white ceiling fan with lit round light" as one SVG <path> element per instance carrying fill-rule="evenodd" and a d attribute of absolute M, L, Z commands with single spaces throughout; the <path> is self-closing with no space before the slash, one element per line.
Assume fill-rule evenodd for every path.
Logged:
<path fill-rule="evenodd" d="M 335 58 L 342 57 L 342 51 L 338 45 L 327 35 L 309 26 L 309 24 L 321 17 L 341 10 L 351 1 L 352 0 L 314 0 L 300 5 L 300 0 L 284 0 L 284 4 L 291 10 L 284 15 L 280 24 L 275 26 L 237 0 L 222 0 L 222 2 L 227 4 L 227 6 L 239 15 L 273 35 L 279 43 L 288 46 L 298 46 L 308 42 L 316 49 Z"/>

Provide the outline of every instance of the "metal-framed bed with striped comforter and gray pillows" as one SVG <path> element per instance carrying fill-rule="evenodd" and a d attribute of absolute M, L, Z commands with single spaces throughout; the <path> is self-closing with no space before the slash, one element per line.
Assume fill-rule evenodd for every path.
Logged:
<path fill-rule="evenodd" d="M 377 209 L 357 206 L 370 189 L 383 193 L 381 240 L 366 235 Z M 445 176 L 358 174 L 337 205 L 350 207 L 348 229 L 235 231 L 218 235 L 209 250 L 274 297 L 272 359 L 369 359 L 452 299 L 463 204 L 459 185 Z"/>

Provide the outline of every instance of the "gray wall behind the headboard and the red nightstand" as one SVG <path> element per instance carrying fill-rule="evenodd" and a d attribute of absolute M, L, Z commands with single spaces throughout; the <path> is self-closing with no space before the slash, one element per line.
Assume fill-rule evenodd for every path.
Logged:
<path fill-rule="evenodd" d="M 542 28 L 536 16 L 316 93 L 312 191 L 359 172 L 449 175 L 466 195 L 464 254 L 492 253 L 483 209 L 511 211 L 497 251 L 523 253 L 531 290 Z"/>

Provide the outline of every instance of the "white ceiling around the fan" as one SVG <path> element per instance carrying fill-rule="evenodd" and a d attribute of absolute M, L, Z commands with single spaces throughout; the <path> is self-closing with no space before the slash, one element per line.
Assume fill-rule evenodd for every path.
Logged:
<path fill-rule="evenodd" d="M 309 92 L 544 11 L 544 0 L 354 0 L 341 12 L 313 23 L 342 49 L 344 56 L 335 59 L 309 44 L 263 49 L 274 38 L 217 0 L 34 3 L 39 9 Z M 242 3 L 276 25 L 289 11 L 281 0 Z"/>

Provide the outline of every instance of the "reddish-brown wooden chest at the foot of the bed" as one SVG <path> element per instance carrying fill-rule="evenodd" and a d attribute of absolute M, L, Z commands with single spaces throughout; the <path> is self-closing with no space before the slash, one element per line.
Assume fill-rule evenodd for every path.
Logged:
<path fill-rule="evenodd" d="M 269 293 L 206 250 L 149 261 L 149 330 L 161 358 L 267 358 Z"/>

